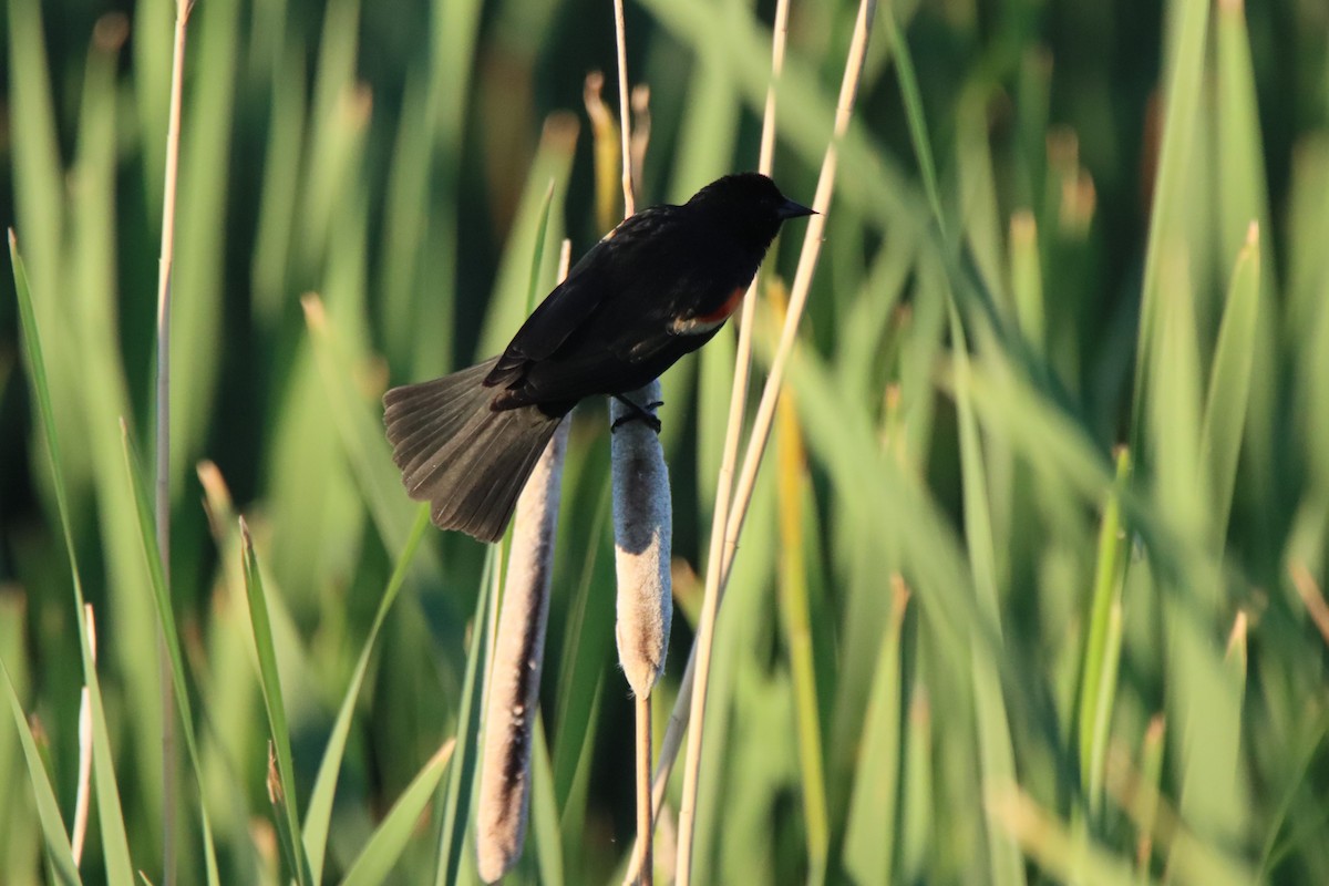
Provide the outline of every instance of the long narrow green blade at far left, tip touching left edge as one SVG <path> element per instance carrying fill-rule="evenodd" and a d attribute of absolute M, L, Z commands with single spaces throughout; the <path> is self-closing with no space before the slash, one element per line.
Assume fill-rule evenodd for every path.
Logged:
<path fill-rule="evenodd" d="M 60 438 L 56 432 L 54 409 L 51 402 L 47 363 L 43 357 L 41 335 L 37 331 L 37 317 L 32 307 L 32 292 L 28 288 L 28 274 L 19 255 L 19 242 L 12 228 L 9 230 L 9 260 L 13 266 L 15 292 L 19 296 L 19 319 L 23 327 L 28 376 L 41 413 L 43 430 L 47 434 L 47 457 L 51 460 L 56 501 L 60 507 L 60 526 L 64 533 L 65 550 L 69 555 L 69 569 L 73 575 L 74 620 L 78 624 L 84 684 L 88 687 L 88 699 L 92 708 L 93 782 L 97 792 L 97 820 L 101 822 L 106 879 L 110 886 L 130 886 L 134 882 L 134 867 L 129 855 L 129 838 L 125 834 L 125 814 L 120 802 L 120 786 L 116 782 L 114 760 L 110 752 L 110 731 L 106 727 L 106 709 L 102 704 L 101 681 L 97 679 L 97 662 L 92 654 L 88 639 L 88 623 L 84 619 L 82 580 L 78 575 L 78 558 L 74 551 L 73 530 L 69 527 L 69 506 L 65 495 L 64 473 L 61 470 Z"/>

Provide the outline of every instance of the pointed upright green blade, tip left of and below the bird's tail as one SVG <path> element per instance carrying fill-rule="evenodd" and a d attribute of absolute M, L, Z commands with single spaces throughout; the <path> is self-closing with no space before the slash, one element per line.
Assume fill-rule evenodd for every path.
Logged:
<path fill-rule="evenodd" d="M 270 735 L 268 796 L 276 809 L 278 832 L 283 837 L 288 853 L 290 874 L 300 886 L 310 886 L 314 875 L 304 845 L 299 838 L 300 818 L 296 812 L 295 762 L 291 758 L 291 731 L 286 721 L 286 701 L 282 697 L 282 680 L 276 672 L 276 650 L 272 646 L 272 624 L 268 620 L 267 595 L 263 592 L 263 576 L 259 573 L 258 555 L 254 553 L 254 539 L 250 537 L 245 518 L 241 518 L 241 539 L 245 558 L 245 591 L 249 596 L 250 623 L 254 630 L 254 646 L 258 650 L 259 685 L 263 689 L 263 707 L 267 711 Z"/>

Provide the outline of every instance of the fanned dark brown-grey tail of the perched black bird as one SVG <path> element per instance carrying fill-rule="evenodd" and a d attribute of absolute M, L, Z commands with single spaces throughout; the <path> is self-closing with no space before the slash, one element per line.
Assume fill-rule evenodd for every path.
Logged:
<path fill-rule="evenodd" d="M 540 406 L 494 410 L 485 376 L 497 357 L 443 379 L 393 388 L 383 422 L 401 482 L 429 502 L 439 529 L 502 538 L 526 478 L 558 426 Z"/>

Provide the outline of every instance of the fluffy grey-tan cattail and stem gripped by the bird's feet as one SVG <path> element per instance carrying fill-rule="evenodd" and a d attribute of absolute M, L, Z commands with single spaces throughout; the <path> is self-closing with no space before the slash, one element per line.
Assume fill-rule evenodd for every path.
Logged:
<path fill-rule="evenodd" d="M 618 116 L 622 137 L 623 218 L 637 211 L 633 186 L 634 158 L 646 153 L 649 117 L 641 114 L 642 126 L 634 132 L 627 86 L 627 37 L 623 24 L 623 0 L 614 0 L 614 36 L 618 54 Z M 647 93 L 638 90 L 638 105 L 645 109 Z M 627 395 L 642 408 L 659 400 L 659 381 Z M 672 594 L 670 587 L 670 550 L 672 546 L 672 505 L 668 469 L 659 437 L 641 421 L 619 424 L 627 414 L 618 401 L 610 401 L 610 420 L 615 433 L 611 442 L 614 486 L 614 562 L 618 574 L 618 616 L 615 638 L 618 660 L 633 687 L 637 704 L 637 851 L 631 866 L 639 870 L 638 882 L 650 886 L 651 832 L 651 689 L 664 671 L 668 648 Z"/>

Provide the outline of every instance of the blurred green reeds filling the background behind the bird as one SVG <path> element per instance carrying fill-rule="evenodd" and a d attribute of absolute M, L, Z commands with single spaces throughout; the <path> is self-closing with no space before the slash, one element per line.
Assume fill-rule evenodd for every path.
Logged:
<path fill-rule="evenodd" d="M 773 5 L 629 4 L 645 203 L 755 167 Z M 803 202 L 855 15 L 792 0 L 775 178 Z M 152 882 L 157 615 L 117 418 L 150 452 L 171 23 L 166 0 L 0 17 L 0 207 L 45 349 L 125 845 Z M 1326 37 L 1322 0 L 877 11 L 719 623 L 700 882 L 1329 882 Z M 199 753 L 197 774 L 177 766 L 178 882 L 205 882 L 201 806 L 221 882 L 292 877 L 235 513 L 295 806 L 330 814 L 314 879 L 469 882 L 452 836 L 473 757 L 427 764 L 474 736 L 485 551 L 429 530 L 371 635 L 417 514 L 377 399 L 496 352 L 557 242 L 578 255 L 603 232 L 582 90 L 614 70 L 611 8 L 199 0 L 189 40 L 171 595 Z M 801 230 L 768 280 L 792 279 Z M 0 882 L 65 882 L 33 788 L 49 778 L 68 829 L 84 673 L 17 304 L 0 299 L 0 662 L 20 705 L 0 715 Z M 666 377 L 682 618 L 658 724 L 699 608 L 732 352 L 726 332 Z M 615 881 L 633 840 L 603 406 L 578 416 L 514 882 Z M 371 639 L 335 802 L 315 802 Z M 421 772 L 399 806 L 421 814 L 393 820 Z M 126 882 L 102 800 L 82 877 Z"/>

